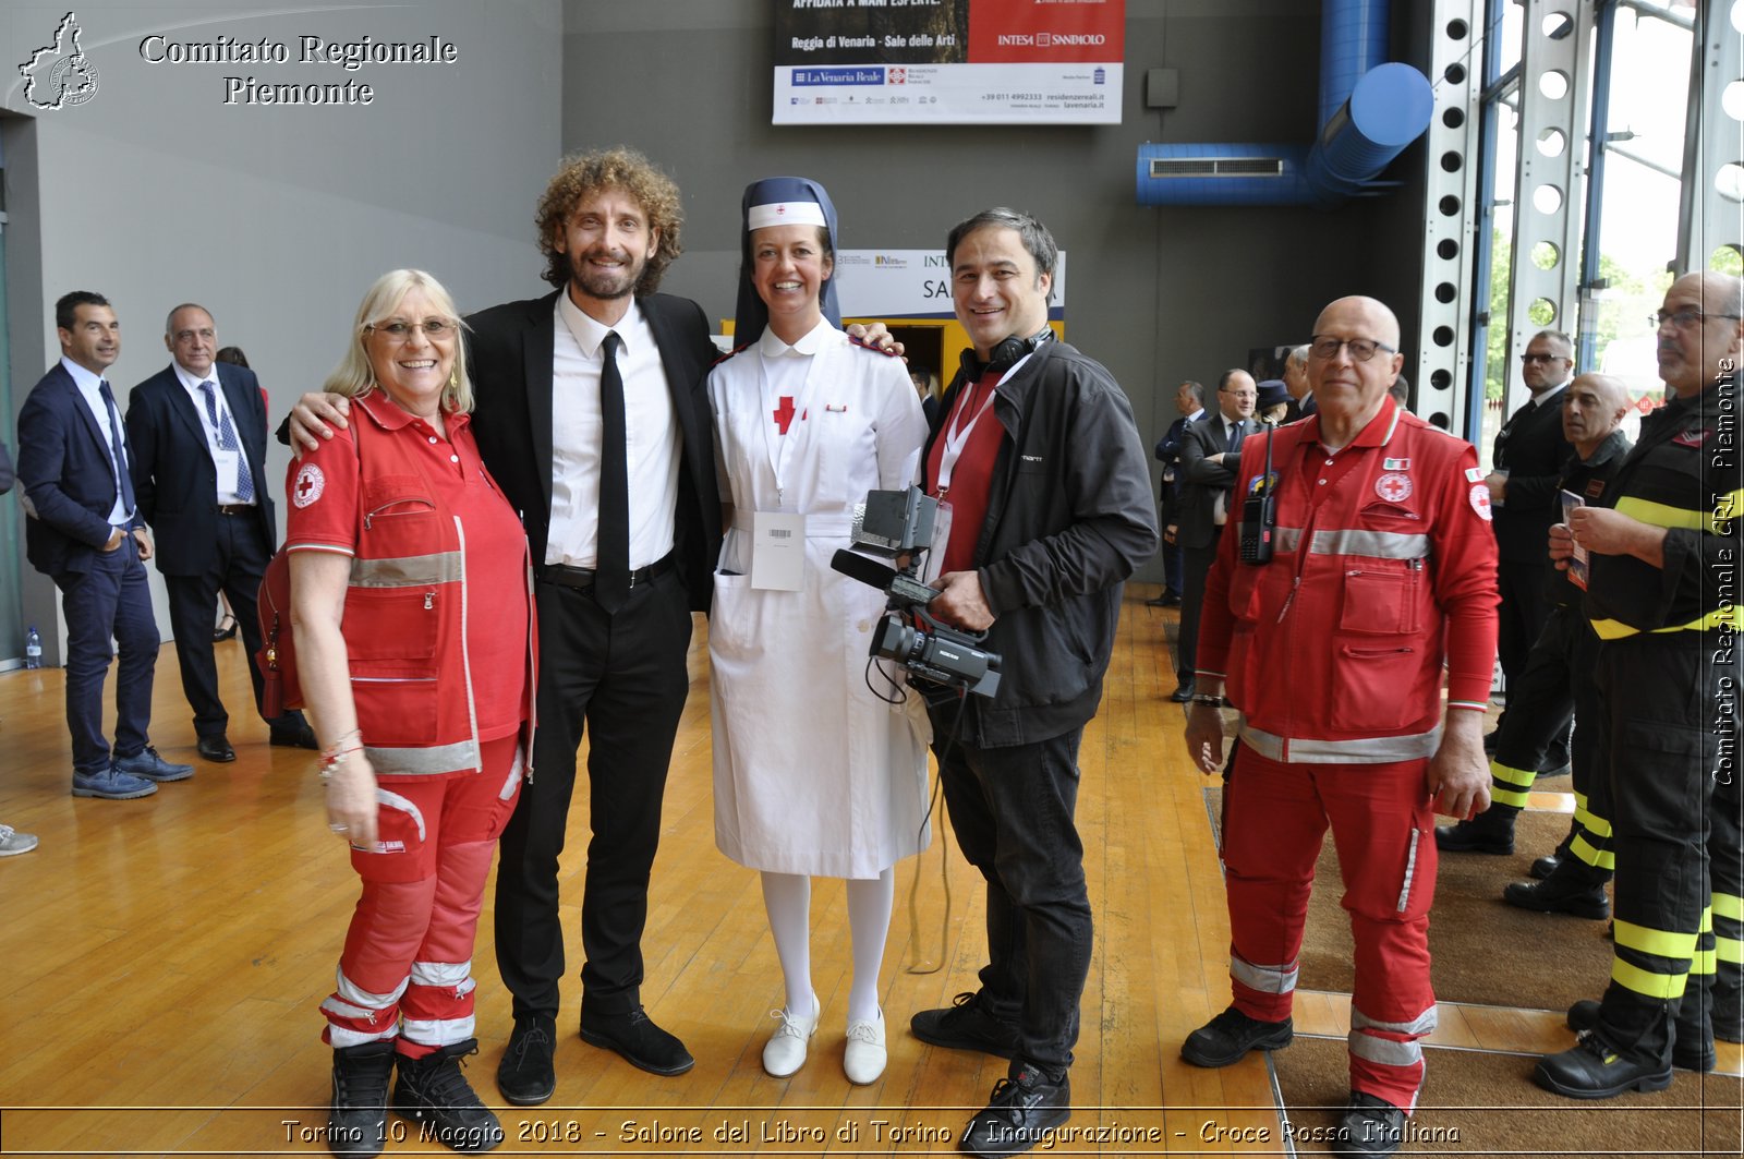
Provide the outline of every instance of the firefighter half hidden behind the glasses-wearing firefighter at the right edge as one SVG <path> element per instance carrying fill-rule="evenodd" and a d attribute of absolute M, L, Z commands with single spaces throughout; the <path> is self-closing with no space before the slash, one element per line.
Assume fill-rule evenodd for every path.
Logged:
<path fill-rule="evenodd" d="M 1563 464 L 1552 494 L 1568 492 L 1580 496 L 1582 503 L 1598 503 L 1604 483 L 1629 454 L 1629 438 L 1618 429 L 1629 414 L 1629 387 L 1622 379 L 1584 374 L 1559 394 L 1557 410 L 1563 412 L 1563 438 L 1575 452 Z M 1561 503 L 1557 499 L 1557 510 Z M 1517 881 L 1503 890 L 1503 899 L 1524 909 L 1608 918 L 1611 909 L 1604 883 L 1611 878 L 1606 848 L 1611 829 L 1598 806 L 1604 791 L 1594 787 L 1592 765 L 1601 731 L 1598 689 L 1592 686 L 1599 639 L 1582 614 L 1585 592 L 1580 583 L 1571 573 L 1549 566 L 1545 571 L 1550 614 L 1512 682 L 1512 705 L 1521 710 L 1503 716 L 1496 728 L 1489 808 L 1470 820 L 1441 826 L 1435 843 L 1444 852 L 1512 854 L 1514 819 L 1526 808 L 1536 770 L 1545 752 L 1566 735 L 1570 719 L 1578 717 L 1582 730 L 1571 745 L 1575 824 L 1554 854 L 1533 862 L 1533 876 L 1545 881 Z M 1482 840 L 1468 838 L 1472 829 L 1482 831 Z M 1570 850 L 1575 850 L 1575 859 L 1557 871 Z"/>

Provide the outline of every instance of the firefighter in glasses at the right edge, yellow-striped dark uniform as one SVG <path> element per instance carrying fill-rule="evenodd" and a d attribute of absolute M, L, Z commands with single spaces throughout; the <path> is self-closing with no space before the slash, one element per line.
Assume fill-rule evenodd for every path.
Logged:
<path fill-rule="evenodd" d="M 1709 1025 L 1718 1037 L 1744 1039 L 1741 316 L 1744 283 L 1730 274 L 1672 283 L 1657 316 L 1659 368 L 1672 400 L 1641 424 L 1601 504 L 1575 510 L 1550 532 L 1557 566 L 1568 566 L 1577 545 L 1589 553 L 1585 611 L 1601 641 L 1599 745 L 1617 864 L 1617 951 L 1596 1025 L 1571 1051 L 1538 1060 L 1533 1073 L 1570 1098 L 1667 1087 L 1674 1046 L 1685 1047 L 1678 1061 L 1706 1061 L 1697 1035 Z M 1716 946 L 1713 976 L 1704 934 Z M 1681 1044 L 1678 1030 L 1686 1030 Z"/>

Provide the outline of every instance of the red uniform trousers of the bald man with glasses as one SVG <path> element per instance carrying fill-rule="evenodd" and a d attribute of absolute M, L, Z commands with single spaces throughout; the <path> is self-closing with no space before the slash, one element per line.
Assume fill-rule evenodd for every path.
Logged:
<path fill-rule="evenodd" d="M 1350 1087 L 1409 1114 L 1423 1087 L 1418 1039 L 1435 1030 L 1435 813 L 1425 761 L 1285 765 L 1243 744 L 1224 806 L 1235 1009 L 1268 1023 L 1291 1016 L 1308 890 L 1331 824 L 1345 876 L 1339 904 L 1357 943 Z"/>

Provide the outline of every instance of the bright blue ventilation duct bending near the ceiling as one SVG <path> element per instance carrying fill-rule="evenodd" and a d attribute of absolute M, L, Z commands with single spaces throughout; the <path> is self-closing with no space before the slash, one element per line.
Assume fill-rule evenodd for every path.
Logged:
<path fill-rule="evenodd" d="M 1369 194 L 1434 113 L 1428 79 L 1385 65 L 1388 0 L 1322 0 L 1320 133 L 1303 145 L 1141 145 L 1141 206 L 1331 208 Z"/>

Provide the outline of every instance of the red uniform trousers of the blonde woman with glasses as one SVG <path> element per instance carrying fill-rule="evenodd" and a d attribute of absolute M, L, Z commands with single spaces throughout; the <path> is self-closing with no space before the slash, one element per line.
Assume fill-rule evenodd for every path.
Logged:
<path fill-rule="evenodd" d="M 483 772 L 377 787 L 377 848 L 352 848 L 363 897 L 321 1004 L 335 1047 L 399 1039 L 422 1058 L 473 1037 L 473 943 L 497 838 L 521 784 L 520 737 L 487 740 Z"/>

